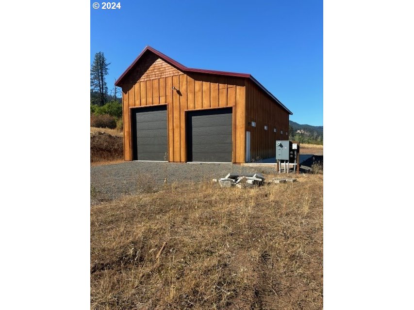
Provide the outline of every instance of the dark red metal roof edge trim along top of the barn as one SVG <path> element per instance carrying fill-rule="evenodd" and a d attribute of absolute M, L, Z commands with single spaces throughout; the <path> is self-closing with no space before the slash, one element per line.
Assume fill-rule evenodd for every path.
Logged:
<path fill-rule="evenodd" d="M 278 98 L 276 98 L 272 93 L 270 93 L 267 89 L 265 89 L 265 87 L 262 84 L 260 84 L 255 78 L 253 78 L 248 73 L 235 73 L 235 72 L 227 72 L 227 71 L 215 71 L 215 70 L 204 70 L 204 69 L 188 68 L 188 67 L 182 65 L 180 62 L 176 62 L 172 58 L 169 58 L 168 56 L 164 55 L 163 53 L 157 51 L 156 49 L 154 49 L 154 48 L 152 48 L 152 47 L 150 47 L 148 45 L 138 55 L 138 57 L 135 58 L 135 60 L 131 63 L 131 65 L 124 71 L 124 73 L 122 73 L 122 75 L 115 81 L 115 85 L 116 86 L 119 86 L 119 83 L 121 82 L 121 80 L 127 75 L 127 73 L 132 69 L 132 67 L 135 65 L 135 63 L 138 62 L 138 60 L 141 58 L 142 55 L 144 55 L 144 53 L 147 50 L 153 52 L 155 55 L 157 55 L 158 57 L 162 58 L 166 62 L 172 64 L 173 66 L 177 67 L 178 69 L 180 69 L 183 72 L 197 72 L 197 73 L 215 74 L 215 75 L 219 75 L 219 76 L 230 76 L 230 77 L 238 77 L 238 78 L 250 78 L 265 93 L 267 93 L 272 99 L 274 99 L 278 104 L 280 104 L 290 115 L 293 115 L 293 113 L 289 109 L 287 109 L 282 104 L 282 102 L 280 102 L 278 100 Z"/>

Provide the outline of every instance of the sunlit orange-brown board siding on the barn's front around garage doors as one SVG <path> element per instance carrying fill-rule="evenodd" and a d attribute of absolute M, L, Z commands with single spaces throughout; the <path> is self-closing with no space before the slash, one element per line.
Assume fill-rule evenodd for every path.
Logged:
<path fill-rule="evenodd" d="M 149 71 L 152 70 L 151 68 L 155 68 L 152 65 L 147 65 L 147 67 Z M 145 76 L 153 75 L 146 71 Z M 173 91 L 172 86 L 180 90 L 181 95 Z M 130 108 L 167 103 L 169 161 L 185 162 L 187 160 L 185 111 L 221 107 L 234 107 L 232 161 L 235 163 L 245 161 L 246 91 L 243 78 L 220 77 L 201 73 L 187 75 L 181 72 L 173 76 L 162 75 L 162 77 L 142 80 L 142 77 L 132 74 L 122 85 L 122 90 L 125 160 L 132 160 Z"/>

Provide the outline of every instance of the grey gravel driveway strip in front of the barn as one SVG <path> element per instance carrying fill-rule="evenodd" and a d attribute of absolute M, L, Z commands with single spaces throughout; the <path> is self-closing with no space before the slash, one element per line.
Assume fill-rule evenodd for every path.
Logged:
<path fill-rule="evenodd" d="M 126 161 L 91 167 L 91 204 L 110 201 L 123 195 L 157 190 L 167 182 L 208 181 L 229 172 L 274 173 L 272 167 L 246 167 L 233 164 L 187 164 Z"/>

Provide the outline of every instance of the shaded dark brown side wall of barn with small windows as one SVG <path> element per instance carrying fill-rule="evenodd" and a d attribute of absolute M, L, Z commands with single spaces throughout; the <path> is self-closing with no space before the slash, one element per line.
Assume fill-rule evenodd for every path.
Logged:
<path fill-rule="evenodd" d="M 250 156 L 252 159 L 274 157 L 276 140 L 288 140 L 285 132 L 289 131 L 289 113 L 250 80 L 246 84 L 246 93 L 246 130 L 250 131 Z M 252 121 L 256 122 L 256 127 L 248 125 Z M 277 133 L 273 132 L 275 127 Z"/>

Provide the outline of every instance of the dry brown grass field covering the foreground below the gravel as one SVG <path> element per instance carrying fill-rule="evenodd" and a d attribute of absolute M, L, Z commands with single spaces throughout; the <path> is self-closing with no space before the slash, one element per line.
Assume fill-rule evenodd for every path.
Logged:
<path fill-rule="evenodd" d="M 322 309 L 322 184 L 171 184 L 92 206 L 91 309 Z"/>

